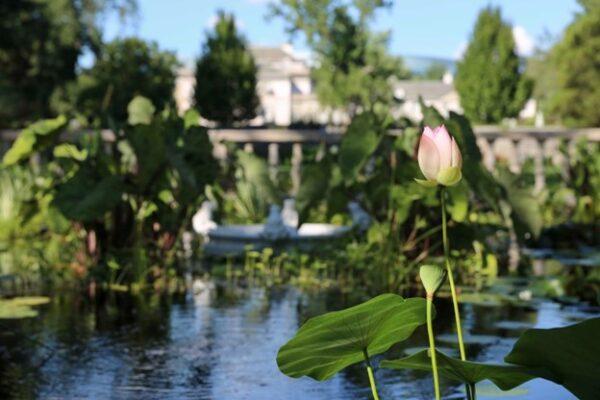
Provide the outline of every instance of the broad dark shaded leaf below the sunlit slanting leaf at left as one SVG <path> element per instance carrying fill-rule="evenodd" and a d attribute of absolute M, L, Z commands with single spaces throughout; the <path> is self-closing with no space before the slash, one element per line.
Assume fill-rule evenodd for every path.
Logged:
<path fill-rule="evenodd" d="M 118 176 L 101 177 L 91 166 L 84 165 L 57 187 L 53 205 L 71 220 L 89 222 L 115 207 L 123 190 Z"/>

